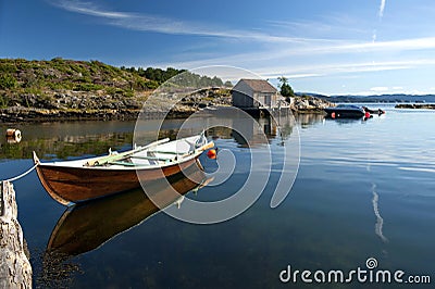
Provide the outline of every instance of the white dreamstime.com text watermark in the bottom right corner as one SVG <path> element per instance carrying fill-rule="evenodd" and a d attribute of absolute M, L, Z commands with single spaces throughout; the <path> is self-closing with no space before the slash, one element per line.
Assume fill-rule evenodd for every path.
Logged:
<path fill-rule="evenodd" d="M 357 267 L 348 272 L 341 269 L 331 271 L 299 271 L 291 269 L 291 265 L 279 273 L 282 282 L 304 282 L 304 284 L 431 284 L 430 275 L 407 275 L 403 271 L 378 269 L 377 260 L 369 257 L 365 261 L 365 267 Z"/>

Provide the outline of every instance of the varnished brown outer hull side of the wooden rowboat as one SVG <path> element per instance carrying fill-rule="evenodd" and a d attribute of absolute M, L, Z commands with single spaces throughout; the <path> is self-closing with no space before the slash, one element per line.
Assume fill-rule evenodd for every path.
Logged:
<path fill-rule="evenodd" d="M 95 169 L 91 167 L 37 166 L 47 192 L 61 204 L 77 203 L 140 187 L 140 181 L 169 177 L 196 165 L 197 158 L 183 163 L 147 169 Z M 140 181 L 139 181 L 140 179 Z"/>

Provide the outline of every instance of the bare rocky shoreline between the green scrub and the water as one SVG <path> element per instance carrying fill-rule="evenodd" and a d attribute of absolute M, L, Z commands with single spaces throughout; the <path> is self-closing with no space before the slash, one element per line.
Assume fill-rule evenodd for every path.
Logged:
<path fill-rule="evenodd" d="M 133 121 L 139 116 L 148 96 L 130 98 L 65 91 L 49 98 L 22 95 L 8 108 L 0 109 L 0 123 L 59 122 L 59 121 Z M 184 97 L 174 108 L 167 108 L 162 100 L 148 101 L 146 117 L 188 117 L 192 113 L 210 106 L 231 105 L 228 89 L 207 89 Z M 323 113 L 323 109 L 334 105 L 315 97 L 295 97 L 290 109 L 295 113 Z M 144 114 L 141 114 L 144 116 Z"/>

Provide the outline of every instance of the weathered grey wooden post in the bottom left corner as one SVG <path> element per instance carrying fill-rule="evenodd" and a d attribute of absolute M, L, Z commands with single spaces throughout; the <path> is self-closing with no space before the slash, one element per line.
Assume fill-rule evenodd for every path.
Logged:
<path fill-rule="evenodd" d="M 32 288 L 32 266 L 25 254 L 13 185 L 0 183 L 0 288 Z"/>

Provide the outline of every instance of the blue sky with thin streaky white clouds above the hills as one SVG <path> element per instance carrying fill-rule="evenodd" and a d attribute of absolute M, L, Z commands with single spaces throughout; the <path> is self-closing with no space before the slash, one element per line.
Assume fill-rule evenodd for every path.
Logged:
<path fill-rule="evenodd" d="M 433 0 L 0 0 L 0 58 L 231 65 L 296 91 L 435 93 Z"/>

